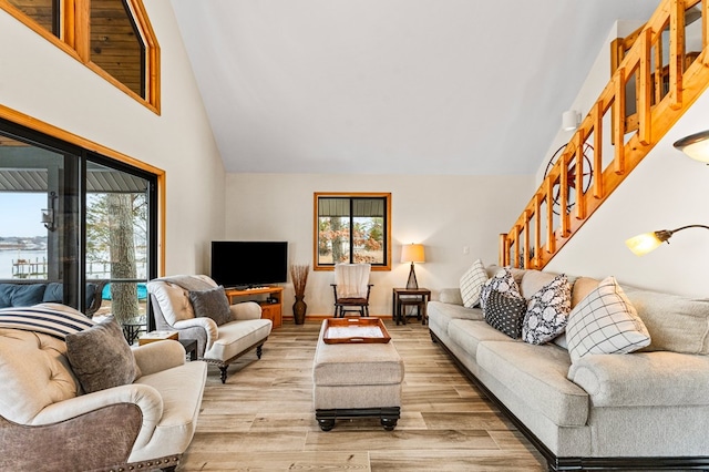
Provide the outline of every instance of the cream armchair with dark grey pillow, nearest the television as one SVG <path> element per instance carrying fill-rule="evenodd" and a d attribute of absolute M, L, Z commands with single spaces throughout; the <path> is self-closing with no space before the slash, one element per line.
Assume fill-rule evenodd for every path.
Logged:
<path fill-rule="evenodd" d="M 224 288 L 205 275 L 176 275 L 147 284 L 155 326 L 197 340 L 197 357 L 220 370 L 226 382 L 232 362 L 256 349 L 261 357 L 273 324 L 254 301 L 230 305 Z"/>

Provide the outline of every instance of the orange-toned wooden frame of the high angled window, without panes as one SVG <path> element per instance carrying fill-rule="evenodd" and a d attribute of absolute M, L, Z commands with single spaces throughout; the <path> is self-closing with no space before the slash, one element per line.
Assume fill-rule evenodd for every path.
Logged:
<path fill-rule="evenodd" d="M 63 0 L 60 2 L 60 37 L 55 37 L 32 18 L 11 4 L 8 0 L 0 0 L 0 9 L 7 11 L 32 31 L 71 55 L 86 68 L 95 72 L 136 102 L 146 106 L 153 113 L 161 113 L 161 76 L 160 76 L 160 45 L 151 25 L 142 0 L 126 0 L 133 16 L 141 40 L 145 43 L 145 95 L 141 96 L 121 81 L 109 74 L 101 66 L 91 61 L 91 11 L 90 0 Z"/>

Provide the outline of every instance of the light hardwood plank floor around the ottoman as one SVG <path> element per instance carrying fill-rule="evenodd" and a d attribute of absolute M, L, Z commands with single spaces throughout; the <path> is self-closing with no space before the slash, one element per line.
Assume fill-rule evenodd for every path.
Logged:
<path fill-rule="evenodd" d="M 195 438 L 178 471 L 544 471 L 543 458 L 462 376 L 428 327 L 386 320 L 404 360 L 401 419 L 338 420 L 320 431 L 312 358 L 320 321 L 285 321 L 229 368 L 209 368 Z"/>

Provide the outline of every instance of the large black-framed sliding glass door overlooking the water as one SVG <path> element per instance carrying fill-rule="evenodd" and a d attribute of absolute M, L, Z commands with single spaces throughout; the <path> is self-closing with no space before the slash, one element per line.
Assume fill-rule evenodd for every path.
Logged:
<path fill-rule="evenodd" d="M 150 171 L 0 120 L 0 283 L 47 284 L 37 302 L 113 315 L 126 338 L 153 329 L 145 287 L 158 271 L 158 175 Z"/>

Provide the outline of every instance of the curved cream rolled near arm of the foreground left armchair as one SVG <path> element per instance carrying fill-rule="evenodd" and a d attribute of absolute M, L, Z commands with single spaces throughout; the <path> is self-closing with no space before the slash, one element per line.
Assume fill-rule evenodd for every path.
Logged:
<path fill-rule="evenodd" d="M 52 403 L 40 411 L 31 424 L 58 423 L 117 403 L 132 403 L 141 409 L 143 425 L 133 449 L 147 444 L 163 417 L 163 398 L 155 388 L 141 383 L 113 387 Z"/>

